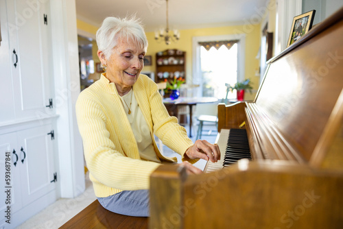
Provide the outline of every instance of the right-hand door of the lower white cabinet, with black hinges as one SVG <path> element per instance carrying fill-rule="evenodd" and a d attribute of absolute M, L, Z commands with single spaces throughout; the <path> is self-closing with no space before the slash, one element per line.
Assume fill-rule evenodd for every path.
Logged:
<path fill-rule="evenodd" d="M 51 125 L 22 130 L 18 135 L 23 206 L 53 191 L 57 182 L 54 167 L 54 129 Z M 55 176 L 56 175 L 56 176 Z"/>

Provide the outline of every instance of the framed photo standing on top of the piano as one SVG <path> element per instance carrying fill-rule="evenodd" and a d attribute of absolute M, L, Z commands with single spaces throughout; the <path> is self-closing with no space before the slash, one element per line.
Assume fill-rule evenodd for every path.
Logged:
<path fill-rule="evenodd" d="M 309 32 L 309 29 L 311 29 L 312 23 L 314 22 L 314 14 L 316 14 L 316 10 L 311 10 L 305 14 L 294 16 L 287 47 Z"/>

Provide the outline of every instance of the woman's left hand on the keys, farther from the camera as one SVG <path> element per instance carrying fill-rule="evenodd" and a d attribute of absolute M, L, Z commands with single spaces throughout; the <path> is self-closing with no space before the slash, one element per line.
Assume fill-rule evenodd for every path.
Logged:
<path fill-rule="evenodd" d="M 211 144 L 206 140 L 197 140 L 194 145 L 189 147 L 185 153 L 189 158 L 202 158 L 217 162 L 220 160 L 220 149 L 217 144 Z"/>

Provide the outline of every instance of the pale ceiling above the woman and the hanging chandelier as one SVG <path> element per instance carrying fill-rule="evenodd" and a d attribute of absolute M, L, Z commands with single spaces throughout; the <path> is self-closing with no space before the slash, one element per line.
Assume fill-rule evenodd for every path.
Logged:
<path fill-rule="evenodd" d="M 75 0 L 78 19 L 99 27 L 106 16 L 136 14 L 145 31 L 165 27 L 165 0 Z M 169 0 L 169 27 L 191 29 L 244 24 L 261 18 L 268 0 Z M 254 17 L 252 17 L 255 15 Z M 255 21 L 253 21 L 255 22 Z M 256 23 L 256 22 L 255 22 Z"/>

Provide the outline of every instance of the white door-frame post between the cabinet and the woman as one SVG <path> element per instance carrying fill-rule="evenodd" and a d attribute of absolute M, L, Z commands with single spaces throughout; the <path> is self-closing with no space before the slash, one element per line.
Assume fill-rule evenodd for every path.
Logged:
<path fill-rule="evenodd" d="M 60 195 L 84 192 L 84 156 L 75 102 L 80 94 L 75 0 L 51 0 Z"/>

